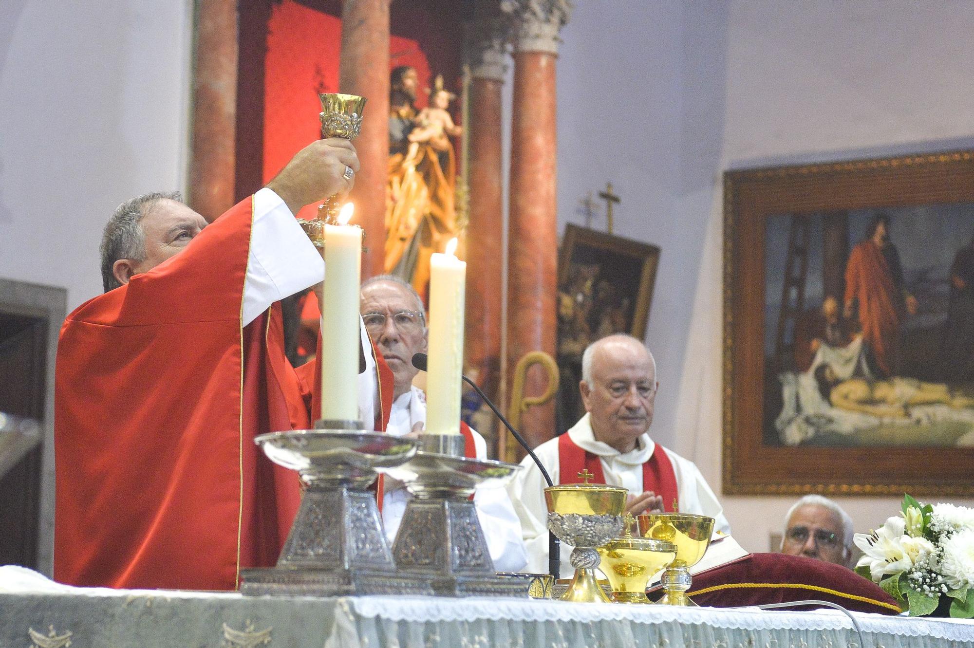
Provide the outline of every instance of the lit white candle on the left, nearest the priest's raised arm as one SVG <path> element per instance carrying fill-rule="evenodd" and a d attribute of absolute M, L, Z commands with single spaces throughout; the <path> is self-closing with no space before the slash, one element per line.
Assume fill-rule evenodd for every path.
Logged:
<path fill-rule="evenodd" d="M 342 207 L 341 225 L 324 226 L 324 287 L 321 304 L 321 418 L 358 419 L 358 280 L 361 230 L 345 225 L 352 203 Z M 363 421 L 366 425 L 372 421 Z"/>

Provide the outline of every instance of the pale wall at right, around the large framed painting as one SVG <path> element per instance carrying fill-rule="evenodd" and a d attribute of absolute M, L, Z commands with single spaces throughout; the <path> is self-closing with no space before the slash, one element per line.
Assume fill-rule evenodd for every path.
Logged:
<path fill-rule="evenodd" d="M 581 0 L 558 64 L 559 221 L 611 180 L 618 234 L 662 248 L 653 434 L 721 485 L 728 168 L 974 145 L 974 4 Z M 794 497 L 722 497 L 768 550 Z M 857 530 L 897 510 L 843 498 Z"/>

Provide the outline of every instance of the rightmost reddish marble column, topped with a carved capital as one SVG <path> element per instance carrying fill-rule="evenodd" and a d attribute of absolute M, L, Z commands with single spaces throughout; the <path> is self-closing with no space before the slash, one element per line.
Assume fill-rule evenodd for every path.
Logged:
<path fill-rule="evenodd" d="M 507 251 L 507 371 L 529 351 L 555 354 L 558 233 L 556 197 L 555 60 L 558 32 L 568 21 L 567 0 L 507 0 L 516 18 L 510 144 Z M 508 378 L 508 383 L 510 379 Z M 538 366 L 525 394 L 540 395 Z M 532 446 L 555 434 L 554 403 L 521 418 Z"/>

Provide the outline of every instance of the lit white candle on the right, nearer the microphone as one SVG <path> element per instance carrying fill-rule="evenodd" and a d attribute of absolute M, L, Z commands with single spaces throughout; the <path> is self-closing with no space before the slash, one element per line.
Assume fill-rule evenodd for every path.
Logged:
<path fill-rule="evenodd" d="M 427 423 L 430 434 L 460 434 L 460 387 L 464 363 L 464 292 L 467 264 L 446 253 L 430 259 L 430 353 L 427 360 Z"/>

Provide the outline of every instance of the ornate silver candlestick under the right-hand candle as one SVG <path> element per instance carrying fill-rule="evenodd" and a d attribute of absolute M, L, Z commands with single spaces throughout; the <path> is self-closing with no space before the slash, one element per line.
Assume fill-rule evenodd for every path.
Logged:
<path fill-rule="evenodd" d="M 460 435 L 420 435 L 421 451 L 389 471 L 413 494 L 393 544 L 400 577 L 441 596 L 527 597 L 526 579 L 498 576 L 469 496 L 501 487 L 520 466 L 463 456 Z"/>

